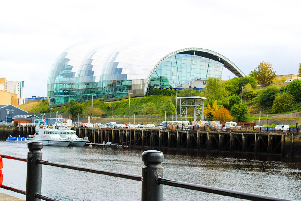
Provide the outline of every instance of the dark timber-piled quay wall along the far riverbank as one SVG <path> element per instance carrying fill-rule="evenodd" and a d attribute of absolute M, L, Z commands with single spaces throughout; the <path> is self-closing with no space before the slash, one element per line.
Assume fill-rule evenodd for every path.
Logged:
<path fill-rule="evenodd" d="M 34 126 L 18 126 L 17 135 L 28 137 Z M 247 130 L 157 130 L 72 127 L 79 137 L 91 143 L 108 142 L 142 149 L 181 149 L 199 152 L 301 157 L 301 134 L 298 132 L 262 132 Z"/>

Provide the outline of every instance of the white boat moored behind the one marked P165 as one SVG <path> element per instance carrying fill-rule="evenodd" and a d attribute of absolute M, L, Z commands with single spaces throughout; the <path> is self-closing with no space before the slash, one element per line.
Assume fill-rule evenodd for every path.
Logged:
<path fill-rule="evenodd" d="M 85 144 L 88 142 L 87 137 L 78 137 L 75 130 L 68 128 L 61 122 L 55 123 L 53 128 L 60 132 L 60 136 L 62 138 L 71 140 L 69 146 L 85 146 Z"/>

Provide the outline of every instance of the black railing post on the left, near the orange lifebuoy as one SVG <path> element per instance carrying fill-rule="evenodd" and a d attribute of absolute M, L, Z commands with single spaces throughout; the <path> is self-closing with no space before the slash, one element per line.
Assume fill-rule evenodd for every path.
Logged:
<path fill-rule="evenodd" d="M 36 159 L 42 160 L 43 143 L 31 141 L 27 144 L 27 180 L 26 180 L 26 201 L 40 201 L 35 194 L 41 194 L 42 164 L 37 164 Z"/>

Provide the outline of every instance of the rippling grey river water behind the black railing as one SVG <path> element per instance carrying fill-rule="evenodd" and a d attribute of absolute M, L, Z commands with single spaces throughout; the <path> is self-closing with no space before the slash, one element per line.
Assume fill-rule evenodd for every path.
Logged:
<path fill-rule="evenodd" d="M 0 142 L 0 153 L 27 157 L 26 143 Z M 43 160 L 141 175 L 142 150 L 51 147 Z M 301 200 L 301 160 L 255 155 L 163 151 L 163 178 Z M 26 162 L 3 159 L 3 185 L 26 190 Z M 0 188 L 21 199 L 24 195 Z M 141 182 L 43 165 L 42 195 L 60 200 L 141 200 Z M 163 200 L 241 200 L 163 186 Z"/>

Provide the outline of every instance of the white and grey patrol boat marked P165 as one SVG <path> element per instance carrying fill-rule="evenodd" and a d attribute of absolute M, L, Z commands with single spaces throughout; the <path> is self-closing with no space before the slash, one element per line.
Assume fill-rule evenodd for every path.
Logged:
<path fill-rule="evenodd" d="M 68 146 L 72 140 L 67 140 L 60 136 L 60 132 L 53 128 L 48 128 L 47 124 L 37 124 L 36 134 L 27 138 L 27 143 L 31 141 L 40 141 L 43 145 L 49 146 Z"/>

